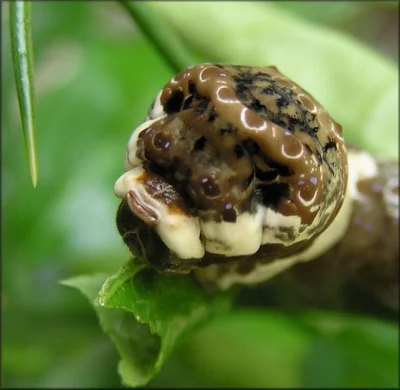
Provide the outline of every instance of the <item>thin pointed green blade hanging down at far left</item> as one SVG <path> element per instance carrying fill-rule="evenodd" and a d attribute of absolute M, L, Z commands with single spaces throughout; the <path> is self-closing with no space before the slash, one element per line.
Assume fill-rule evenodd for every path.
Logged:
<path fill-rule="evenodd" d="M 33 79 L 33 47 L 31 2 L 10 1 L 11 50 L 15 83 L 24 132 L 25 148 L 33 186 L 38 180 L 35 130 L 35 86 Z"/>

